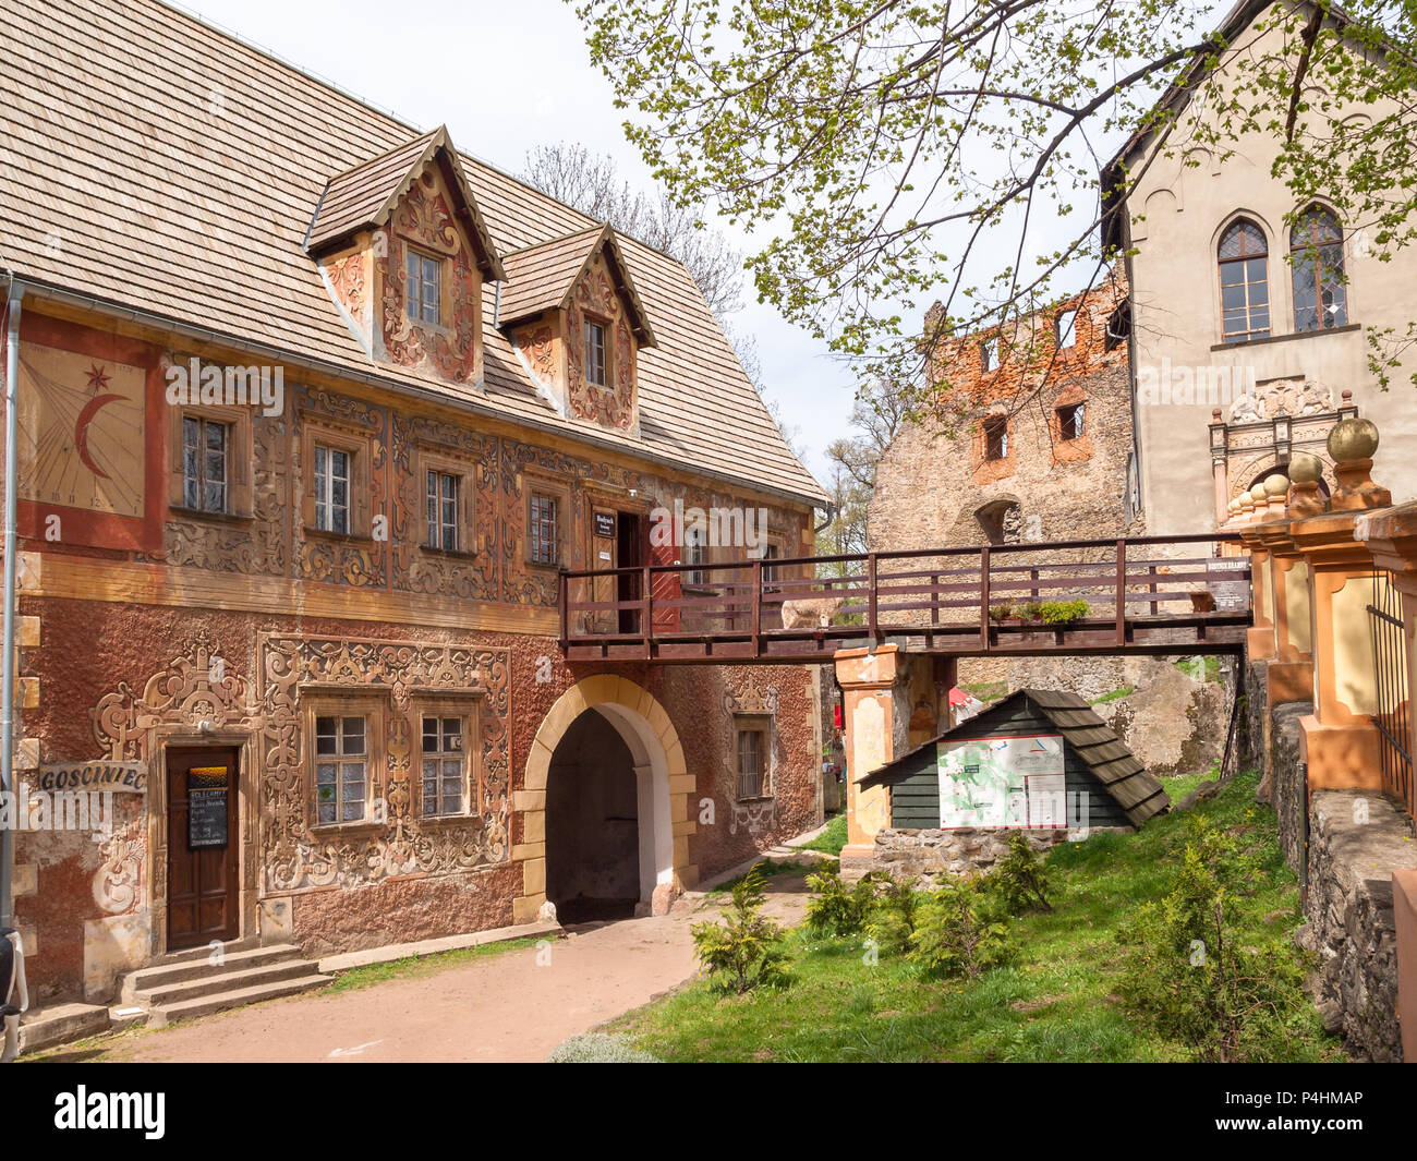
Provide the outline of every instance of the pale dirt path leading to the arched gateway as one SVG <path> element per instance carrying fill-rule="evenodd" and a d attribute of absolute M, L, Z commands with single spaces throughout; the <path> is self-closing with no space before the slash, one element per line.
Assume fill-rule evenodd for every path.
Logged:
<path fill-rule="evenodd" d="M 769 883 L 767 913 L 794 924 L 801 879 Z M 544 1060 L 561 1041 L 649 1002 L 696 971 L 691 923 L 714 899 L 669 916 L 582 929 L 432 975 L 333 995 L 292 997 L 191 1025 L 122 1038 L 99 1060 Z"/>

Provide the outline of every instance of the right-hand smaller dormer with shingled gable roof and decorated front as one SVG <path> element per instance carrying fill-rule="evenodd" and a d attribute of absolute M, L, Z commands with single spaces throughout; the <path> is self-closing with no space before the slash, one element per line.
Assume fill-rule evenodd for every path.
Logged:
<path fill-rule="evenodd" d="M 497 325 L 567 418 L 639 428 L 639 352 L 655 333 L 615 231 L 597 225 L 506 259 Z"/>

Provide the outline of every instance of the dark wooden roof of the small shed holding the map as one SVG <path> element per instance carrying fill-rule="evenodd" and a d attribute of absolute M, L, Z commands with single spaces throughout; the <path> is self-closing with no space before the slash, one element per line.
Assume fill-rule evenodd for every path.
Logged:
<path fill-rule="evenodd" d="M 951 730 L 935 739 L 917 746 L 894 761 L 877 770 L 871 770 L 859 783 L 862 787 L 890 784 L 897 775 L 914 770 L 918 761 L 910 761 L 921 750 L 932 747 L 939 741 L 961 737 L 979 737 L 981 727 L 986 726 L 986 719 L 1020 700 L 1027 703 L 1027 709 L 1037 717 L 1049 722 L 1063 736 L 1066 747 L 1085 763 L 1108 795 L 1117 802 L 1121 812 L 1132 826 L 1141 826 L 1148 818 L 1170 805 L 1170 798 L 1162 788 L 1161 781 L 1146 771 L 1136 756 L 1112 731 L 1093 707 L 1078 697 L 1061 689 L 1017 689 L 1007 697 L 995 702 L 978 717 L 961 722 Z M 1023 709 L 1023 706 L 1017 706 Z M 1007 727 L 999 727 L 998 736 L 1009 734 Z M 993 736 L 992 733 L 989 736 Z"/>

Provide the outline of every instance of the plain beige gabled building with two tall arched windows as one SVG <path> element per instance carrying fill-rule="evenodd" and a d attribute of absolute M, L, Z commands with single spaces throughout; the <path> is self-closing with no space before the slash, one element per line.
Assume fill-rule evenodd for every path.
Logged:
<path fill-rule="evenodd" d="M 1223 94 L 1246 84 L 1246 60 L 1292 51 L 1284 31 L 1261 27 L 1289 7 L 1238 0 L 1226 14 L 1219 33 L 1229 48 L 1214 72 Z M 1294 9 L 1311 11 L 1306 3 Z M 1335 7 L 1328 18 L 1343 17 Z M 1295 451 L 1325 462 L 1331 490 L 1325 441 L 1355 408 L 1382 432 L 1374 471 L 1394 498 L 1411 498 L 1417 468 L 1404 448 L 1417 438 L 1417 361 L 1410 344 L 1399 344 L 1383 390 L 1366 332 L 1407 333 L 1417 254 L 1408 247 L 1383 261 L 1365 223 L 1340 220 L 1323 200 L 1295 206 L 1272 174 L 1280 142 L 1268 130 L 1226 149 L 1209 145 L 1199 129 L 1224 113 L 1203 99 L 1203 78 L 1197 62 L 1163 96 L 1169 116 L 1155 122 L 1161 128 L 1139 130 L 1102 172 L 1104 247 L 1127 254 L 1131 285 L 1148 527 L 1209 532 L 1243 492 L 1287 475 Z M 1305 99 L 1343 132 L 1387 112 L 1329 111 L 1322 84 L 1322 74 L 1312 75 Z M 1212 502 L 1197 505 L 1197 489 Z"/>

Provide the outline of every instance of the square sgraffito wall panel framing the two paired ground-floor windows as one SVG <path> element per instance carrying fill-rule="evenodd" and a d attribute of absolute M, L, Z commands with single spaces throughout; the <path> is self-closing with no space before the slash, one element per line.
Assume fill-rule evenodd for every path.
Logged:
<path fill-rule="evenodd" d="M 296 638 L 261 642 L 261 852 L 268 892 L 329 885 L 356 886 L 393 875 L 476 870 L 510 858 L 509 787 L 510 655 L 507 649 L 410 641 Z M 381 690 L 385 716 L 387 817 L 373 831 L 323 836 L 307 814 L 300 686 L 322 693 Z M 478 746 L 472 771 L 476 815 L 421 822 L 412 811 L 411 722 L 418 693 L 456 690 L 476 700 Z M 469 690 L 475 690 L 469 693 Z M 380 788 L 370 787 L 377 795 Z"/>

